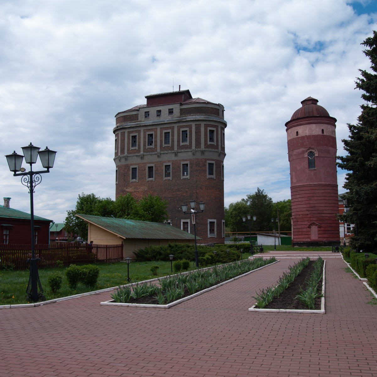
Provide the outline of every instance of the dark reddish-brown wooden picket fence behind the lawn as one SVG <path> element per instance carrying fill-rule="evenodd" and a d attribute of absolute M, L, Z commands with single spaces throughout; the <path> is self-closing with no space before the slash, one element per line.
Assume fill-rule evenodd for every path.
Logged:
<path fill-rule="evenodd" d="M 40 258 L 39 267 L 69 266 L 72 263 L 116 262 L 123 259 L 123 244 L 97 245 L 78 244 L 77 242 L 51 242 L 50 245 L 35 245 L 35 257 Z M 13 268 L 23 270 L 29 266 L 31 258 L 29 245 L 0 245 L 0 270 Z"/>

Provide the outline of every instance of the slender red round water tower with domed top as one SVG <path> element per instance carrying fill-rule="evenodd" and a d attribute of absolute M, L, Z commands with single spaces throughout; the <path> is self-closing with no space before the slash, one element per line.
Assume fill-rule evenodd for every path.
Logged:
<path fill-rule="evenodd" d="M 287 127 L 292 245 L 339 245 L 336 119 L 318 100 L 301 102 Z"/>

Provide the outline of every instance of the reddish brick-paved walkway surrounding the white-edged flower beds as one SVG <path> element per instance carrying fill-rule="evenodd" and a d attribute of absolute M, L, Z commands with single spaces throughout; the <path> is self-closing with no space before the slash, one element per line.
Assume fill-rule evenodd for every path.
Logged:
<path fill-rule="evenodd" d="M 377 305 L 325 255 L 326 314 L 248 311 L 294 263 L 283 256 L 170 309 L 103 306 L 100 293 L 0 310 L 0 377 L 375 376 Z"/>

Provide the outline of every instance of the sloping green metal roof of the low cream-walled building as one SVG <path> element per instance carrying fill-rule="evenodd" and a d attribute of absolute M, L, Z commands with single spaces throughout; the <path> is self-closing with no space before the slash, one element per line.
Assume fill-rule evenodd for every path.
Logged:
<path fill-rule="evenodd" d="M 116 219 L 112 217 L 81 215 L 79 213 L 76 216 L 108 230 L 121 238 L 194 239 L 193 234 L 161 222 Z M 196 238 L 201 239 L 200 237 Z"/>

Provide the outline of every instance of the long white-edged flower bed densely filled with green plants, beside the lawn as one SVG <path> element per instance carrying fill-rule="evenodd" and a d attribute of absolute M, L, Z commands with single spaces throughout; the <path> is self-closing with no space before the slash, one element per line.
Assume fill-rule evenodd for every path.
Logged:
<path fill-rule="evenodd" d="M 274 257 L 257 257 L 158 279 L 158 285 L 152 282 L 126 285 L 111 294 L 113 300 L 101 302 L 101 305 L 169 308 L 273 262 L 276 262 Z"/>

